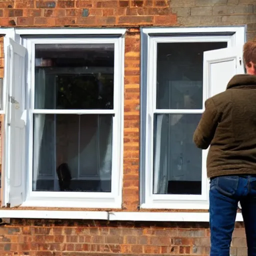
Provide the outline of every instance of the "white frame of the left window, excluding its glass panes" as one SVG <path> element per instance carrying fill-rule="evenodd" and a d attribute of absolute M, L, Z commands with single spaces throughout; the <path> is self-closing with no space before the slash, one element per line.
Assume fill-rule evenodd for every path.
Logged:
<path fill-rule="evenodd" d="M 78 207 L 78 208 L 121 208 L 122 192 L 122 159 L 123 159 L 123 81 L 124 81 L 124 33 L 121 28 L 17 28 L 8 30 L 10 37 L 27 49 L 27 86 L 26 102 L 28 111 L 26 146 L 26 187 L 25 200 L 20 206 L 33 207 Z M 5 32 L 6 35 L 8 35 Z M 28 36 L 29 35 L 29 36 Z M 40 37 L 37 37 L 40 35 Z M 47 37 L 47 35 L 51 35 Z M 56 35 L 56 37 L 54 37 Z M 82 35 L 82 37 L 81 37 Z M 61 37 L 57 37 L 61 36 Z M 106 110 L 34 110 L 34 61 L 35 44 L 83 44 L 113 43 L 114 44 L 114 108 Z M 5 68 L 6 69 L 6 68 Z M 6 87 L 6 86 L 5 86 Z M 28 93 L 30 91 L 30 93 Z M 29 96 L 29 94 L 31 96 Z M 5 94 L 4 94 L 5 95 Z M 6 101 L 6 99 L 5 99 Z M 5 113 L 5 108 L 3 109 Z M 32 191 L 32 115 L 33 113 L 76 113 L 76 114 L 113 114 L 112 123 L 112 173 L 111 192 L 66 192 L 66 191 Z M 8 143 L 6 141 L 6 143 Z M 6 182 L 5 182 L 6 183 Z M 5 184 L 6 185 L 6 184 Z M 8 203 L 8 202 L 5 202 Z"/>

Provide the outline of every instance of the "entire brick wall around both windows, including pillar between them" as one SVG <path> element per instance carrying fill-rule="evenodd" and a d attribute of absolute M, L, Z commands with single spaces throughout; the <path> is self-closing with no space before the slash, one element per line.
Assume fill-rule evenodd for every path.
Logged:
<path fill-rule="evenodd" d="M 126 27 L 122 210 L 139 210 L 141 26 L 247 25 L 256 36 L 256 0 L 0 0 L 2 27 Z M 4 69 L 0 38 L 0 77 Z M 208 255 L 209 224 L 11 219 L 0 255 Z M 245 256 L 236 224 L 232 256 Z"/>

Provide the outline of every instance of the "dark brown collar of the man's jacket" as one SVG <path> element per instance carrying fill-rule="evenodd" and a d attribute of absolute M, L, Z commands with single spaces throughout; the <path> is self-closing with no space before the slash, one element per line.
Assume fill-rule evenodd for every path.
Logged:
<path fill-rule="evenodd" d="M 226 88 L 251 88 L 254 86 L 256 89 L 256 75 L 237 74 L 231 78 Z"/>

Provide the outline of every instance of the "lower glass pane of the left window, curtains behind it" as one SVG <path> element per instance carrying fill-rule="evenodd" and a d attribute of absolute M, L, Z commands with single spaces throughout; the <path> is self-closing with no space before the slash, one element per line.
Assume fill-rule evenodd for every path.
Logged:
<path fill-rule="evenodd" d="M 34 191 L 111 191 L 111 114 L 34 114 Z"/>

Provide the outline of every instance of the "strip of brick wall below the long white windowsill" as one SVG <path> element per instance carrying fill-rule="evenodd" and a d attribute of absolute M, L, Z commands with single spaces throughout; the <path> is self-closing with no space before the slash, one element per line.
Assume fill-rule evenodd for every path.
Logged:
<path fill-rule="evenodd" d="M 233 233 L 231 255 L 246 255 L 241 224 Z M 17 220 L 0 226 L 4 255 L 167 256 L 208 255 L 208 224 Z M 16 254 L 14 254 L 16 252 Z"/>

